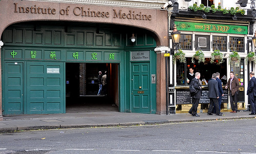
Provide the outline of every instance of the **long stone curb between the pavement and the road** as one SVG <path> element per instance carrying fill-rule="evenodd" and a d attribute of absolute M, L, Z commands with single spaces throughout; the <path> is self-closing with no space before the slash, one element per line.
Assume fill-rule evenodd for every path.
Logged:
<path fill-rule="evenodd" d="M 199 122 L 199 121 L 216 121 L 216 120 L 236 120 L 236 119 L 255 119 L 253 116 L 236 116 L 236 117 L 218 117 L 203 119 L 181 119 L 181 120 L 152 120 L 143 122 L 127 123 L 109 123 L 109 124 L 72 124 L 72 125 L 43 125 L 43 126 L 18 126 L 0 128 L 0 133 L 15 133 L 16 131 L 30 130 L 48 130 L 48 129 L 69 129 L 69 128 L 92 128 L 92 127 L 118 127 L 118 126 L 138 126 L 138 125 L 158 125 L 167 123 Z"/>

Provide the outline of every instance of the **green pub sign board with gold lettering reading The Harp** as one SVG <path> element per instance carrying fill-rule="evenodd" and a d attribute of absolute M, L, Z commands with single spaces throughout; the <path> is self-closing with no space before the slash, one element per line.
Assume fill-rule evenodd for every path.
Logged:
<path fill-rule="evenodd" d="M 193 31 L 193 32 L 213 32 L 213 33 L 228 33 L 228 34 L 247 34 L 248 25 L 225 25 L 212 23 L 196 23 L 188 21 L 175 21 L 177 30 Z"/>

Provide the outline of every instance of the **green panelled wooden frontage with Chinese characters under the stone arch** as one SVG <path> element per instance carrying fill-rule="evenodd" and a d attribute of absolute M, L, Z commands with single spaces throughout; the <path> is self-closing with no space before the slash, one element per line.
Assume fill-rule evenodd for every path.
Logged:
<path fill-rule="evenodd" d="M 34 26 L 29 25 L 10 26 L 4 31 L 5 46 L 1 48 L 4 115 L 65 113 L 66 62 L 119 63 L 119 111 L 156 113 L 156 84 L 151 83 L 151 74 L 156 74 L 156 41 L 152 34 L 140 31 L 136 33 L 136 41 L 132 42 L 132 33 L 121 33 L 116 29 L 100 33 L 94 28 L 71 28 L 69 31 L 65 32 L 65 27 L 50 26 L 41 26 L 35 31 Z M 15 55 L 11 55 L 13 51 Z M 150 51 L 151 59 L 131 62 L 131 51 Z M 12 73 L 7 73 L 8 69 L 12 70 L 8 64 L 12 66 L 14 61 L 22 70 L 17 89 L 7 84 L 13 77 Z M 133 99 L 131 90 L 136 84 L 132 87 L 130 82 L 137 72 L 131 72 L 132 63 L 141 67 L 138 81 L 145 90 L 144 95 L 134 95 Z M 49 67 L 58 67 L 60 73 L 47 73 Z M 13 81 L 15 85 L 19 84 L 17 79 Z M 15 96 L 15 101 L 8 97 L 9 94 Z"/>

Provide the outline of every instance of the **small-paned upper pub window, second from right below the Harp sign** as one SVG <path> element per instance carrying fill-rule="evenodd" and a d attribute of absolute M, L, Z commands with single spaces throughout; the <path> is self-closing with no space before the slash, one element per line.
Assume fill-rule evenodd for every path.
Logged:
<path fill-rule="evenodd" d="M 212 36 L 212 49 L 220 51 L 227 51 L 227 37 L 226 36 Z"/>

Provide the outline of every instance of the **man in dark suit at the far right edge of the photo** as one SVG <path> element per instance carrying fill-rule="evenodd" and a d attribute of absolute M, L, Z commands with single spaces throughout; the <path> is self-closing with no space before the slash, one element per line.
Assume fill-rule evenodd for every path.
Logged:
<path fill-rule="evenodd" d="M 249 115 L 255 115 L 256 108 L 256 78 L 254 72 L 250 72 L 250 81 L 248 84 L 247 95 L 249 96 L 249 102 L 251 104 L 251 113 Z"/>

